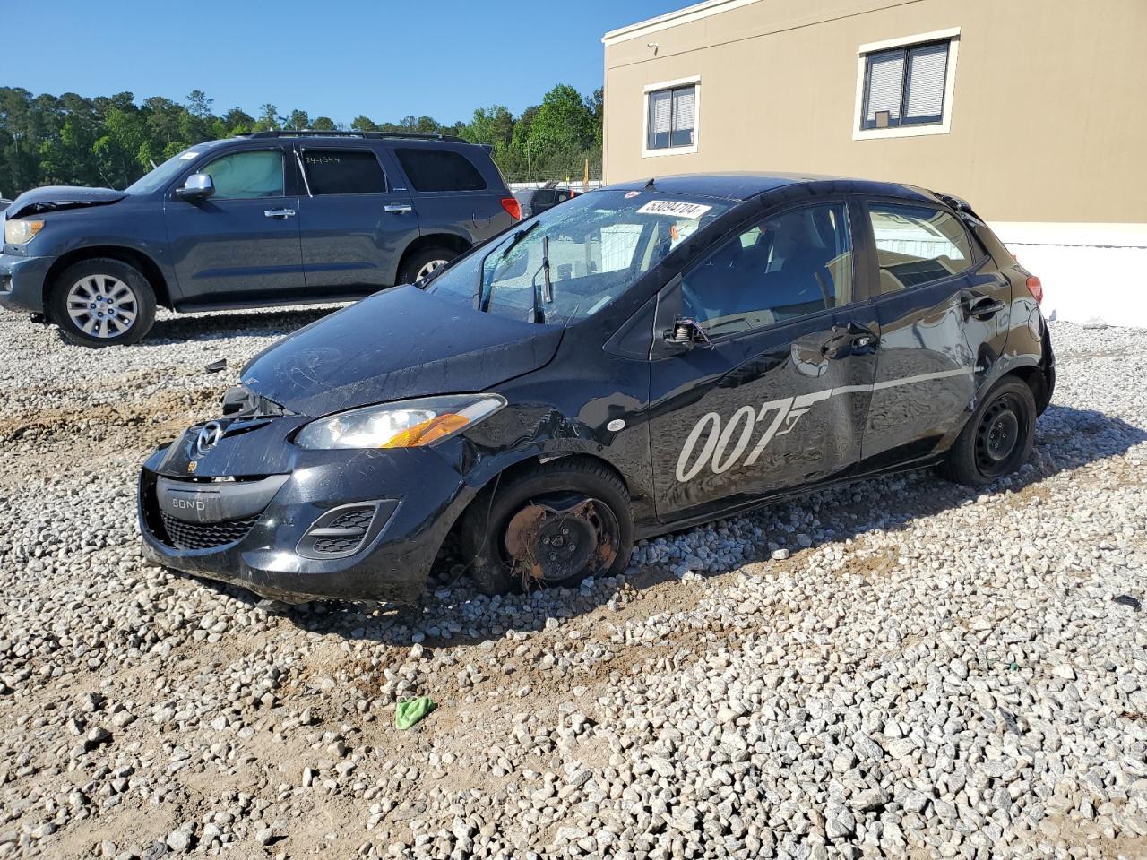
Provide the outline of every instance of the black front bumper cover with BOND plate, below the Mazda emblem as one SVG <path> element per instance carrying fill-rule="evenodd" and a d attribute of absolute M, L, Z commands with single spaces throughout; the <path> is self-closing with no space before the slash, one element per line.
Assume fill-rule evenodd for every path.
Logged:
<path fill-rule="evenodd" d="M 362 458 L 362 452 L 344 453 L 348 461 Z M 140 472 L 143 554 L 163 566 L 288 602 L 414 603 L 450 527 L 473 495 L 446 458 L 424 453 L 429 456 L 369 452 L 376 461 L 372 468 L 326 456 L 326 462 L 298 463 L 289 475 L 212 483 L 161 476 L 166 452 L 158 451 Z M 244 498 L 233 498 L 240 494 Z M 179 497 L 182 510 L 173 508 L 172 495 Z M 189 508 L 196 506 L 209 522 L 189 522 Z M 333 525 L 348 506 L 373 510 L 373 518 L 360 539 L 328 545 L 342 555 L 323 557 L 315 552 L 314 529 Z M 348 548 L 353 552 L 348 554 Z"/>

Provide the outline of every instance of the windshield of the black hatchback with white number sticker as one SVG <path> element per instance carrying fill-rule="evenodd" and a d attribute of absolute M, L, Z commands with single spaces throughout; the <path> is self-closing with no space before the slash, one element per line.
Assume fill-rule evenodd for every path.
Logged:
<path fill-rule="evenodd" d="M 656 190 L 590 191 L 473 251 L 427 292 L 523 320 L 576 322 L 625 292 L 728 201 Z M 547 284 L 548 274 L 548 284 Z"/>

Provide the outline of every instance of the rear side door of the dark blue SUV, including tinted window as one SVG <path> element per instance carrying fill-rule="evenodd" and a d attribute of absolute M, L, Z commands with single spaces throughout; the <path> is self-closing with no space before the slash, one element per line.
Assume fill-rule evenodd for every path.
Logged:
<path fill-rule="evenodd" d="M 397 190 L 370 146 L 301 144 L 303 271 L 314 296 L 373 291 L 395 283 L 419 235 L 408 191 Z"/>

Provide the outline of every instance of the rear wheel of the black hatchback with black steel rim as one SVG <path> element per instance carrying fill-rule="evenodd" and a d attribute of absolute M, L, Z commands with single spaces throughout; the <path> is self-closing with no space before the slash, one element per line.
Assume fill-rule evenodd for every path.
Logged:
<path fill-rule="evenodd" d="M 1036 438 L 1036 399 L 1014 376 L 999 382 L 963 425 L 947 452 L 944 474 L 967 486 L 983 486 L 1019 469 Z"/>

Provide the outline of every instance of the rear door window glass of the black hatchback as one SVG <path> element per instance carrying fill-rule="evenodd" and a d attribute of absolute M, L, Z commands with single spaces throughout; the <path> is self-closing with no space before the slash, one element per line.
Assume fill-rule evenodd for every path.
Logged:
<path fill-rule="evenodd" d="M 967 230 L 954 216 L 931 206 L 869 203 L 880 292 L 935 283 L 975 263 Z"/>

